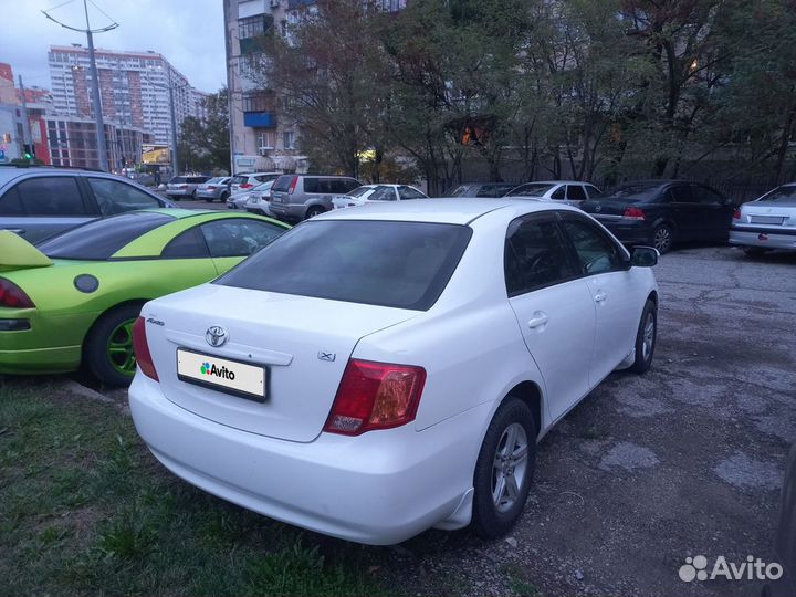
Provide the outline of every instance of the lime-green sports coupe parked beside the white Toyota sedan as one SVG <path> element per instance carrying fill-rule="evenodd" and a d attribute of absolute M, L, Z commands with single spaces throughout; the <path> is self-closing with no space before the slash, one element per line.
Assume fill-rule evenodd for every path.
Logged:
<path fill-rule="evenodd" d="M 85 365 L 104 383 L 129 384 L 146 301 L 217 277 L 287 228 L 253 213 L 150 209 L 36 247 L 0 231 L 0 374 Z"/>

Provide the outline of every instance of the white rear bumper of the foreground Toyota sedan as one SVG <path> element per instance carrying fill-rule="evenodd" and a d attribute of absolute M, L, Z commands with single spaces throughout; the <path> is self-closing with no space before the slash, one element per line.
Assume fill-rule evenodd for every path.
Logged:
<path fill-rule="evenodd" d="M 423 431 L 321 433 L 300 443 L 192 415 L 140 373 L 129 402 L 138 433 L 166 468 L 266 516 L 373 545 L 470 522 L 468 498 L 490 405 Z"/>

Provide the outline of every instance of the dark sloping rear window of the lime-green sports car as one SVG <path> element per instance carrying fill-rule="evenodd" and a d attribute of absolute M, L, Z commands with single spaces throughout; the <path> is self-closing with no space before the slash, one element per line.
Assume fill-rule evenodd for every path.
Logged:
<path fill-rule="evenodd" d="M 106 260 L 142 234 L 172 220 L 171 216 L 151 211 L 123 213 L 78 226 L 36 247 L 52 259 Z"/>

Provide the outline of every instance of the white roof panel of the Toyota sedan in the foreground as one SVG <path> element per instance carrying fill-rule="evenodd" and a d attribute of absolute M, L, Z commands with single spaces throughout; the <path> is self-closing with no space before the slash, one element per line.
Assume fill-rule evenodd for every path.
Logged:
<path fill-rule="evenodd" d="M 404 222 L 431 222 L 468 224 L 491 211 L 505 209 L 514 212 L 531 213 L 546 210 L 577 211 L 577 208 L 549 201 L 528 201 L 527 199 L 482 197 L 457 197 L 452 199 L 431 199 L 430 201 L 385 201 L 373 202 L 367 207 L 335 209 L 317 217 L 318 220 L 395 220 Z M 313 218 L 314 220 L 315 218 Z"/>

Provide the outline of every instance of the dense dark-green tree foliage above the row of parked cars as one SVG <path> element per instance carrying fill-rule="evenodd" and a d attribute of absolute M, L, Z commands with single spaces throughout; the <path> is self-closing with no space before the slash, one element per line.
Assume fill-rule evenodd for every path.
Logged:
<path fill-rule="evenodd" d="M 362 170 L 364 149 L 410 156 L 437 192 L 473 159 L 494 179 L 507 166 L 526 179 L 672 177 L 715 160 L 782 178 L 793 165 L 793 3 L 377 4 L 321 0 L 286 39 L 262 40 L 261 85 L 316 169 L 379 178 L 380 163 Z"/>

